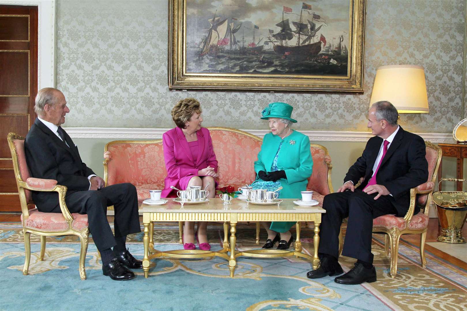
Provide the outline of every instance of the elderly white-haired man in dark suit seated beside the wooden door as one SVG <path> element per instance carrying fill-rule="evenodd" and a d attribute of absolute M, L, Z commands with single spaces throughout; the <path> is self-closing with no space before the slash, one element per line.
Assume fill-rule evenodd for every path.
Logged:
<path fill-rule="evenodd" d="M 68 188 L 65 201 L 70 212 L 88 215 L 103 274 L 113 280 L 130 280 L 135 275 L 128 268 L 142 268 L 142 262 L 125 245 L 128 234 L 141 231 L 136 188 L 132 184 L 104 187 L 104 180 L 83 163 L 77 146 L 60 126 L 70 112 L 66 104 L 57 89 L 45 88 L 37 93 L 34 110 L 38 117 L 24 143 L 31 176 L 57 180 Z M 33 191 L 32 196 L 39 211 L 61 212 L 57 193 Z M 115 236 L 106 217 L 111 205 L 115 207 Z"/>

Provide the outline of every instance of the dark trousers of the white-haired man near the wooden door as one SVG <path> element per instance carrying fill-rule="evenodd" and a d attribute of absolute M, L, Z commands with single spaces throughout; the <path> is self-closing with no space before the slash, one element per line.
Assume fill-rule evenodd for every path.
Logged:
<path fill-rule="evenodd" d="M 115 237 L 141 232 L 136 188 L 130 184 L 117 184 L 99 190 L 77 191 L 65 197 L 70 213 L 87 214 L 89 232 L 97 249 L 102 251 L 116 245 L 109 222 L 107 207 L 115 209 Z M 60 213 L 60 206 L 52 212 Z"/>

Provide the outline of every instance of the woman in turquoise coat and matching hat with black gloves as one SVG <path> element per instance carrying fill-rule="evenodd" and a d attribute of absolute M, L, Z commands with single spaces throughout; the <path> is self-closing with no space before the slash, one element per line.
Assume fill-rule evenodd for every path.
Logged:
<path fill-rule="evenodd" d="M 281 199 L 301 197 L 306 190 L 308 178 L 311 176 L 313 159 L 310 152 L 308 136 L 290 129 L 293 107 L 285 103 L 269 104 L 262 111 L 262 119 L 269 120 L 271 132 L 264 135 L 258 160 L 255 161 L 256 180 L 253 189 L 279 191 Z M 279 242 L 277 249 L 288 249 L 294 237 L 289 229 L 295 222 L 273 221 L 262 222 L 268 231 L 268 240 L 263 249 L 270 249 Z"/>

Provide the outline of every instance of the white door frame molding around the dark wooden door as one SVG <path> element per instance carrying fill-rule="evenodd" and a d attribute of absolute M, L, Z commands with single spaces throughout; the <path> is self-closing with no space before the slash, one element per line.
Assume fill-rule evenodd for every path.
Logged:
<path fill-rule="evenodd" d="M 37 90 L 55 87 L 56 0 L 0 0 L 0 4 L 37 7 Z"/>

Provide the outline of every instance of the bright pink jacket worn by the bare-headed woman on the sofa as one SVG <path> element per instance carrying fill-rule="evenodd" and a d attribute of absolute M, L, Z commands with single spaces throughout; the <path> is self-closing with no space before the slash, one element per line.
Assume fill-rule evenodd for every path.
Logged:
<path fill-rule="evenodd" d="M 201 130 L 197 131 L 197 135 L 198 159 L 192 159 L 190 146 L 186 141 L 182 129 L 176 127 L 166 131 L 162 135 L 167 177 L 164 180 L 164 189 L 161 197 L 169 197 L 173 191 L 170 186 L 177 186 L 178 181 L 182 177 L 197 176 L 199 170 L 208 166 L 214 167 L 217 173 L 217 160 L 212 149 L 209 130 L 202 127 Z"/>

